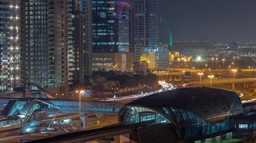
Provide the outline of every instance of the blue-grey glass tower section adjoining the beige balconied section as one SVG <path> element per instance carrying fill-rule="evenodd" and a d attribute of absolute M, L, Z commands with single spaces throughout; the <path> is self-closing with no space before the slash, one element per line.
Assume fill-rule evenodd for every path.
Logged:
<path fill-rule="evenodd" d="M 22 0 L 22 80 L 21 85 L 48 84 L 47 0 Z M 51 15 L 49 15 L 49 18 Z M 49 35 L 51 36 L 51 35 Z M 51 42 L 51 41 L 49 41 Z"/>

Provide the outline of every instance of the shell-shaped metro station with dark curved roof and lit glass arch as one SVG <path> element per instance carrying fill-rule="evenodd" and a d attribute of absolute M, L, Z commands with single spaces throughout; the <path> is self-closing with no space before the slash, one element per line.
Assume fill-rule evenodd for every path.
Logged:
<path fill-rule="evenodd" d="M 236 127 L 243 127 L 243 121 L 234 125 L 236 120 L 233 119 L 243 113 L 241 99 L 234 92 L 184 88 L 156 93 L 125 104 L 119 111 L 119 122 L 155 120 L 156 123 L 170 123 L 180 140 L 196 141 L 211 137 L 217 140 L 220 135 L 232 136 L 230 132 Z"/>

